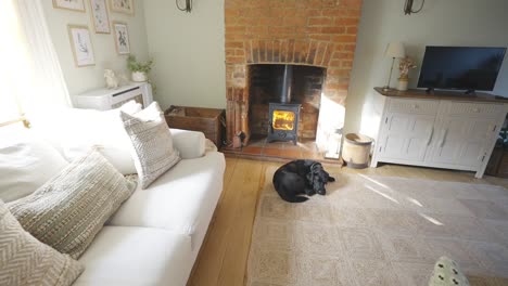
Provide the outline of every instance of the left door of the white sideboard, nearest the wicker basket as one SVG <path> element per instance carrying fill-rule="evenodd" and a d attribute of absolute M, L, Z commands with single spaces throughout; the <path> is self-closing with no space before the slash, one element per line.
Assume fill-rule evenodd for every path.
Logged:
<path fill-rule="evenodd" d="M 423 160 L 432 139 L 434 119 L 434 115 L 389 114 L 383 122 L 380 156 Z"/>

